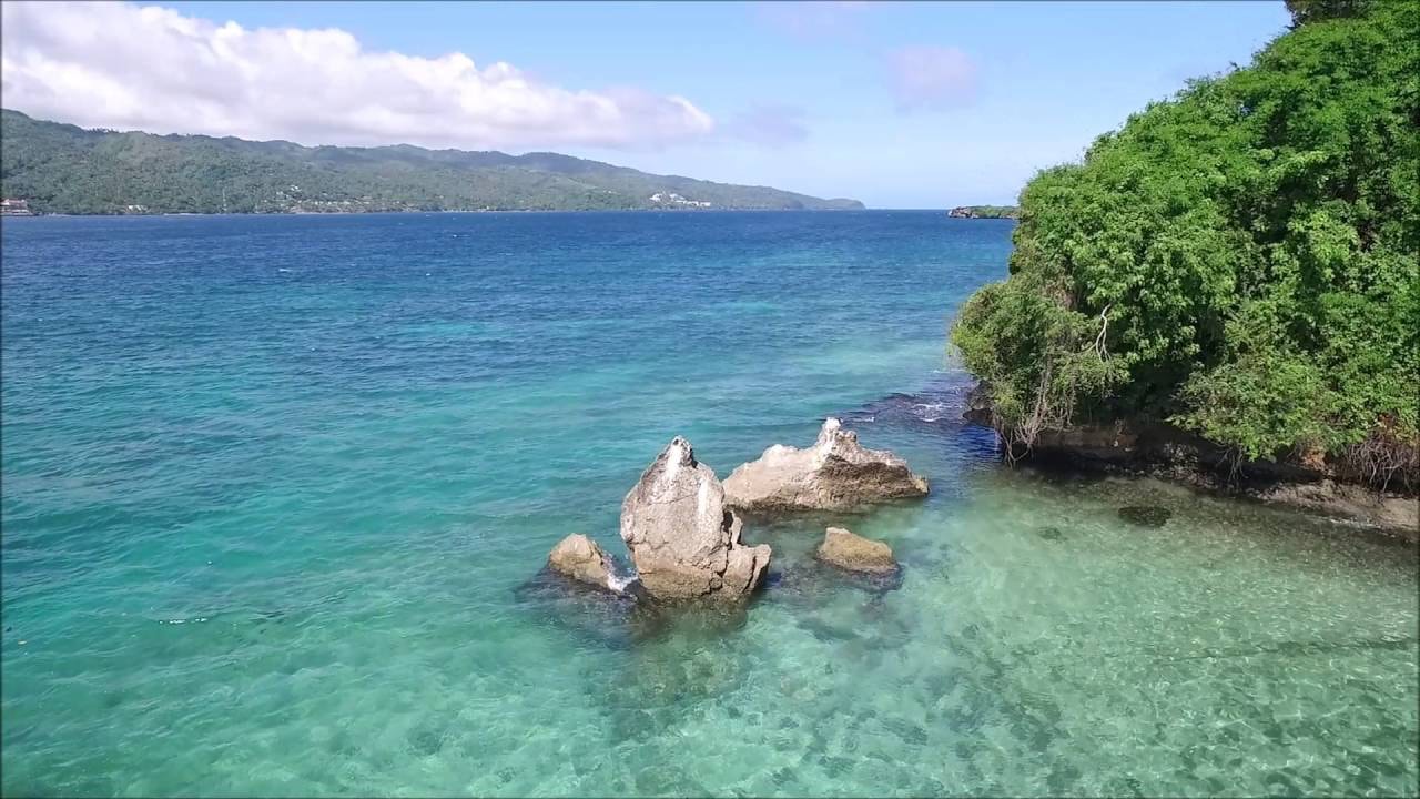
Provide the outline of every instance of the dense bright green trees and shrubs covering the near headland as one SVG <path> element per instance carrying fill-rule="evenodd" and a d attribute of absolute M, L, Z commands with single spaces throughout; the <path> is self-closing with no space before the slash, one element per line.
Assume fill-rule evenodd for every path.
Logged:
<path fill-rule="evenodd" d="M 995 425 L 1167 421 L 1241 459 L 1420 485 L 1420 6 L 1291 0 L 1021 192 L 951 340 Z"/>

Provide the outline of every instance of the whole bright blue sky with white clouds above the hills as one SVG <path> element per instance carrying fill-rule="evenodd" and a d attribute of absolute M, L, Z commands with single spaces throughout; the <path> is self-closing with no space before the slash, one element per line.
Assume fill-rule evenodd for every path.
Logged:
<path fill-rule="evenodd" d="M 557 151 L 869 208 L 1010 203 L 1282 0 L 0 4 L 0 102 L 305 145 Z"/>

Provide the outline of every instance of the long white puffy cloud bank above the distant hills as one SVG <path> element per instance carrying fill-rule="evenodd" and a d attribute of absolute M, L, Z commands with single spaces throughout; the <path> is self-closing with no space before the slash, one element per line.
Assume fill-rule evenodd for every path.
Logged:
<path fill-rule="evenodd" d="M 569 90 L 462 53 L 366 51 L 338 28 L 243 28 L 129 3 L 0 4 L 7 108 L 84 127 L 301 144 L 656 148 L 714 121 L 689 100 Z"/>

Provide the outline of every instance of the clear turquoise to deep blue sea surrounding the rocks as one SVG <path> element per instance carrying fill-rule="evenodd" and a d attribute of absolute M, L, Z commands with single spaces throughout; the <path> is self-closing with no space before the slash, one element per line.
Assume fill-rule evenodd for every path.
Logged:
<path fill-rule="evenodd" d="M 6 219 L 0 792 L 1414 795 L 1413 545 L 961 424 L 1011 227 Z M 625 553 L 672 436 L 723 478 L 825 415 L 932 496 L 750 525 L 743 610 L 541 573 Z M 902 584 L 816 566 L 826 523 Z"/>

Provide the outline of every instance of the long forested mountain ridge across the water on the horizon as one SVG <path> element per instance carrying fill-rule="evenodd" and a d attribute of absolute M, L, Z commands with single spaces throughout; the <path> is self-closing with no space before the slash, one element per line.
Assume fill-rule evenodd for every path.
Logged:
<path fill-rule="evenodd" d="M 0 195 L 34 213 L 861 209 L 555 152 L 87 131 L 0 111 Z"/>

